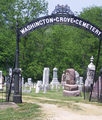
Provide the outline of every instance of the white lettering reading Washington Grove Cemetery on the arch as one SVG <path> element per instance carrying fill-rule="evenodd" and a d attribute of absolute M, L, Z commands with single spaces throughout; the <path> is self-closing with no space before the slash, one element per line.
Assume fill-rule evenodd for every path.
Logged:
<path fill-rule="evenodd" d="M 81 27 L 81 28 L 85 28 L 88 31 L 92 32 L 93 34 L 96 34 L 97 36 L 100 36 L 102 34 L 102 32 L 96 28 L 94 25 L 91 25 L 91 23 L 82 20 L 78 17 L 72 17 L 72 16 L 51 16 L 48 18 L 42 18 L 39 19 L 37 21 L 33 21 L 32 23 L 29 23 L 28 25 L 24 26 L 23 28 L 20 29 L 20 33 L 21 33 L 21 37 L 22 35 L 26 34 L 29 31 L 32 31 L 33 29 L 40 27 L 40 26 L 44 26 L 50 23 L 61 23 L 61 24 L 71 24 L 71 25 L 77 25 L 77 27 Z"/>

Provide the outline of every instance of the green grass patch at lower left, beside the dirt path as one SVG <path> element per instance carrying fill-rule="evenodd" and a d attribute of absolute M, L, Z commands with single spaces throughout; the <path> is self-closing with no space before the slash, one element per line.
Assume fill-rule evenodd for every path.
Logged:
<path fill-rule="evenodd" d="M 7 108 L 0 110 L 0 120 L 39 120 L 41 117 L 40 106 L 31 103 L 17 104 L 19 107 L 16 109 Z"/>

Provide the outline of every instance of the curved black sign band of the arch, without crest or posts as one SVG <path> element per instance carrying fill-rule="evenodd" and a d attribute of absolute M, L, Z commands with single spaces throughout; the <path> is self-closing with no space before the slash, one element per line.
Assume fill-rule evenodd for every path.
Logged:
<path fill-rule="evenodd" d="M 89 21 L 74 16 L 73 14 L 63 14 L 63 13 L 52 14 L 45 17 L 41 17 L 26 24 L 25 26 L 20 28 L 20 38 L 22 38 L 23 36 L 27 35 L 28 33 L 36 29 L 51 25 L 75 26 L 84 29 L 86 31 L 89 31 L 99 39 L 102 39 L 102 31 L 98 27 L 96 27 Z"/>

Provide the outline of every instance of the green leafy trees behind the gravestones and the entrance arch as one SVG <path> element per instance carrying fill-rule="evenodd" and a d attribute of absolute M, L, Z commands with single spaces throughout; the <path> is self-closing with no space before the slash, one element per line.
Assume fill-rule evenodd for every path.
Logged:
<path fill-rule="evenodd" d="M 17 18 L 21 27 L 42 14 L 47 15 L 48 5 L 45 0 L 40 3 L 38 0 L 32 0 L 31 3 L 10 0 L 6 5 L 5 1 L 0 1 L 0 70 L 4 75 L 7 64 L 13 67 L 14 63 Z M 85 8 L 77 16 L 102 30 L 102 7 Z M 56 67 L 60 81 L 63 70 L 68 68 L 75 69 L 83 76 L 83 69 L 86 72 L 91 56 L 94 56 L 96 64 L 99 39 L 76 27 L 56 25 L 31 32 L 21 38 L 19 47 L 19 67 L 26 80 L 29 77 L 33 81 L 42 80 L 44 67 L 49 67 L 51 81 L 53 68 Z M 101 69 L 101 53 L 98 71 Z"/>

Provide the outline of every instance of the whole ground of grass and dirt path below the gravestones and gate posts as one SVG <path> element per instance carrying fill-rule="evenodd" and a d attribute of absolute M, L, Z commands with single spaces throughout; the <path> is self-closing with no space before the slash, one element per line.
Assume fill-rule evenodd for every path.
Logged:
<path fill-rule="evenodd" d="M 2 97 L 0 95 L 0 97 Z M 102 120 L 102 103 L 64 97 L 63 88 L 22 93 L 22 103 L 0 102 L 0 120 Z"/>

